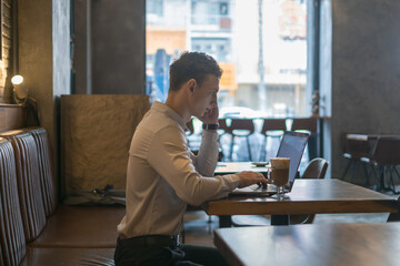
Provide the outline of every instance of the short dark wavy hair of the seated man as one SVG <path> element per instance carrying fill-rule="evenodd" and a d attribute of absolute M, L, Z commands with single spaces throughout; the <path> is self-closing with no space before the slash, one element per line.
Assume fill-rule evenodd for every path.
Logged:
<path fill-rule="evenodd" d="M 170 90 L 178 91 L 190 79 L 201 85 L 207 74 L 218 79 L 222 75 L 222 70 L 212 57 L 202 52 L 183 52 L 170 65 Z"/>

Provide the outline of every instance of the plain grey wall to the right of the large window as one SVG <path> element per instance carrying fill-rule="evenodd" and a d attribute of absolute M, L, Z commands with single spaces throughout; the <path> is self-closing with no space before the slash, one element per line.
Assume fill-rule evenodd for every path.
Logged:
<path fill-rule="evenodd" d="M 340 177 L 342 133 L 400 133 L 400 1 L 331 0 L 331 7 L 330 167 Z M 357 182 L 363 184 L 362 171 Z"/>

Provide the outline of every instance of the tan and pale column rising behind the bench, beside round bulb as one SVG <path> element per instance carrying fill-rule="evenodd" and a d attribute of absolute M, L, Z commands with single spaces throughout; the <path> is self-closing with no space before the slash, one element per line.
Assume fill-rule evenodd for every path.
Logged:
<path fill-rule="evenodd" d="M 19 74 L 48 131 L 58 173 L 59 99 L 70 93 L 70 1 L 18 0 L 18 51 Z"/>

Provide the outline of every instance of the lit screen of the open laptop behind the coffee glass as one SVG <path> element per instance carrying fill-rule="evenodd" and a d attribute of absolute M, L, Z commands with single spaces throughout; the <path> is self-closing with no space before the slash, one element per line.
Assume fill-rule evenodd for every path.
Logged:
<path fill-rule="evenodd" d="M 301 157 L 310 134 L 303 132 L 284 132 L 277 157 L 290 157 L 289 183 L 292 184 L 299 170 Z"/>

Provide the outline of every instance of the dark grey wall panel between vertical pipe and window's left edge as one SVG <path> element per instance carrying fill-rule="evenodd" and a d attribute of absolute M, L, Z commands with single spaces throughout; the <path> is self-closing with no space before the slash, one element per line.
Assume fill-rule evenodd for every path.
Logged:
<path fill-rule="evenodd" d="M 91 2 L 92 94 L 144 94 L 144 2 Z"/>

